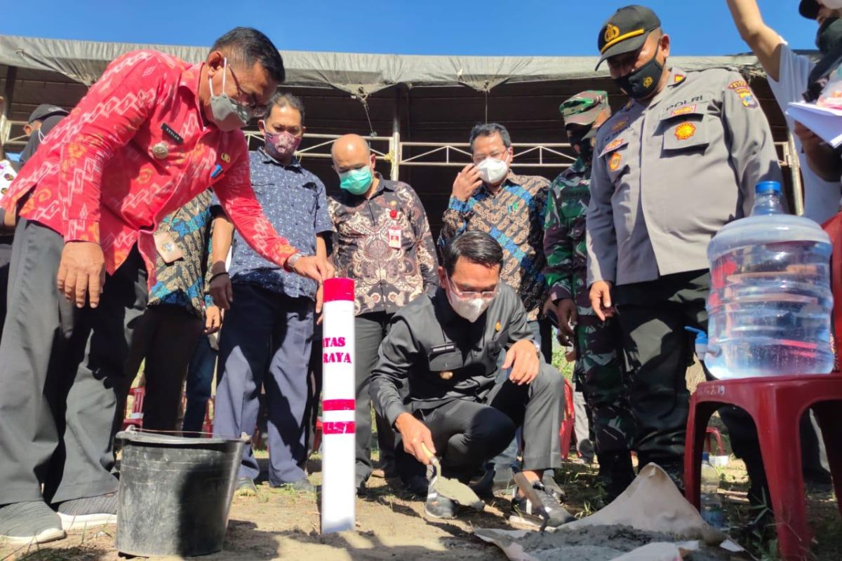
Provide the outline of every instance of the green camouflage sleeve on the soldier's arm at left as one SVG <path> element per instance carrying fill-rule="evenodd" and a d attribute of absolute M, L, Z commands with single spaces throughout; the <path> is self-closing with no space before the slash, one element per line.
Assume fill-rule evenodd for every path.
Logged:
<path fill-rule="evenodd" d="M 550 299 L 557 302 L 573 298 L 573 243 L 570 225 L 563 216 L 561 176 L 552 182 L 547 196 L 546 219 L 544 222 L 544 254 L 546 267 L 544 277 L 550 287 Z"/>

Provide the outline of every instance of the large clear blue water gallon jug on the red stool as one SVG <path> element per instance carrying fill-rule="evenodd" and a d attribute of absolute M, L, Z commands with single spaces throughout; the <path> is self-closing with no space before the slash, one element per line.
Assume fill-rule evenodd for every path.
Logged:
<path fill-rule="evenodd" d="M 829 236 L 784 214 L 781 184 L 759 183 L 750 216 L 707 247 L 705 364 L 717 378 L 829 373 L 833 296 Z"/>

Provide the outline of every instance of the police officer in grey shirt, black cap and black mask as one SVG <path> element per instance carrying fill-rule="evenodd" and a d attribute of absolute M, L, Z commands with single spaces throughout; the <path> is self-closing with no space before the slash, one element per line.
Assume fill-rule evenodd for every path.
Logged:
<path fill-rule="evenodd" d="M 596 315 L 616 311 L 620 322 L 640 464 L 659 463 L 680 484 L 692 357 L 684 328 L 707 329 L 707 244 L 749 214 L 755 184 L 780 181 L 781 170 L 743 77 L 669 67 L 669 43 L 642 6 L 617 10 L 600 29 L 600 63 L 631 99 L 596 137 L 588 282 Z M 745 457 L 740 443 L 753 439 L 753 426 L 731 413 L 722 416 Z M 762 463 L 750 455 L 749 475 L 759 482 Z"/>

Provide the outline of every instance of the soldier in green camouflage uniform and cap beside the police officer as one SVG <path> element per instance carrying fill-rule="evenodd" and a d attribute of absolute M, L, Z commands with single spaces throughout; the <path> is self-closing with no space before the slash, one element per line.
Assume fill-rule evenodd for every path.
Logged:
<path fill-rule="evenodd" d="M 585 246 L 593 139 L 611 110 L 608 94 L 596 91 L 578 93 L 559 109 L 578 158 L 552 182 L 547 201 L 544 276 L 550 285 L 550 301 L 545 312 L 552 311 L 558 318 L 559 341 L 572 340 L 576 348 L 576 386 L 591 410 L 600 479 L 613 499 L 634 479 L 629 450 L 636 429 L 621 365 L 618 325 L 612 319 L 600 321 L 590 306 Z"/>

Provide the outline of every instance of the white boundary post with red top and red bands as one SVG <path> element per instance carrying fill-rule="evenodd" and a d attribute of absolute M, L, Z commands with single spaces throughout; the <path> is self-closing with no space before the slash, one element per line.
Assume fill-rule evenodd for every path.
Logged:
<path fill-rule="evenodd" d="M 324 282 L 322 534 L 355 527 L 354 281 Z"/>

